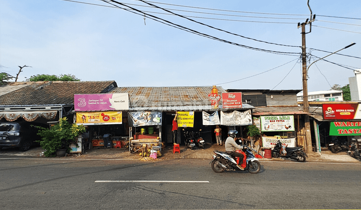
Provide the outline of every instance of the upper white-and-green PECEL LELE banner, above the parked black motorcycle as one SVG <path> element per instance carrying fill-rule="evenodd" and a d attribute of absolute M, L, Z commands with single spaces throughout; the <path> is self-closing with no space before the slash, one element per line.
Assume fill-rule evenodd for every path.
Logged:
<path fill-rule="evenodd" d="M 294 131 L 293 115 L 261 116 L 261 131 Z"/>

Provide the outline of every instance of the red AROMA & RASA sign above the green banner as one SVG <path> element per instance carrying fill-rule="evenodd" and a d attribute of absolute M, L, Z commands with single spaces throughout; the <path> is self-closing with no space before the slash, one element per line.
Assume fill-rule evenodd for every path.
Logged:
<path fill-rule="evenodd" d="M 322 104 L 323 119 L 361 119 L 361 104 L 326 103 Z"/>

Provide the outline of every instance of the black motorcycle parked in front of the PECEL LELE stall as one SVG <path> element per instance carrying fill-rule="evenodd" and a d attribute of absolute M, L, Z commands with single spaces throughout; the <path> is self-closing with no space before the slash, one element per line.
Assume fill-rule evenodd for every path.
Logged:
<path fill-rule="evenodd" d="M 272 157 L 284 157 L 295 159 L 298 162 L 305 162 L 307 154 L 303 151 L 302 147 L 287 147 L 283 146 L 281 141 L 278 140 L 275 147 L 272 150 Z"/>

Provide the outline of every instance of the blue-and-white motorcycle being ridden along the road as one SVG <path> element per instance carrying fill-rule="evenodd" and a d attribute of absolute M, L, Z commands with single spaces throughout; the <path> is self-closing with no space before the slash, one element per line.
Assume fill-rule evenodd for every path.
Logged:
<path fill-rule="evenodd" d="M 210 162 L 212 169 L 217 172 L 223 172 L 225 170 L 241 170 L 237 166 L 239 164 L 239 157 L 233 157 L 227 152 L 214 150 L 215 155 L 213 155 Z M 243 162 L 241 166 L 248 170 L 250 173 L 258 173 L 261 170 L 261 164 L 259 160 L 254 156 L 252 151 L 246 146 L 243 146 L 243 149 L 236 150 L 243 154 Z"/>

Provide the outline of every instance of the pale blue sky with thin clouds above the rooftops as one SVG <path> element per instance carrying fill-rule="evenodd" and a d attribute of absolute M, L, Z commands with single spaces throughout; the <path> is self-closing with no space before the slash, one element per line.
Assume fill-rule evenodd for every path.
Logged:
<path fill-rule="evenodd" d="M 0 0 L 0 71 L 16 76 L 31 66 L 18 81 L 73 74 L 118 86 L 302 89 L 297 23 L 310 18 L 307 0 L 118 2 Z M 361 3 L 309 6 L 316 17 L 305 27 L 307 66 L 356 44 L 313 63 L 308 91 L 348 84 L 361 68 Z"/>

